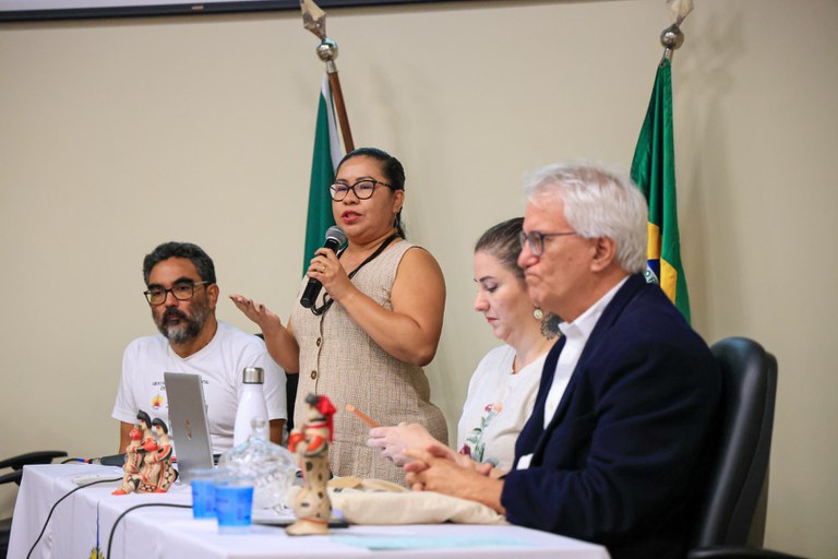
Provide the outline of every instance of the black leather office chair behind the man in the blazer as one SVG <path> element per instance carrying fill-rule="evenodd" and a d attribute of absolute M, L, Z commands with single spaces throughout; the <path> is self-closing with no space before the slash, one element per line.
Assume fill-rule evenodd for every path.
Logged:
<path fill-rule="evenodd" d="M 711 350 L 722 373 L 720 445 L 687 559 L 800 559 L 762 549 L 777 359 L 745 337 Z"/>

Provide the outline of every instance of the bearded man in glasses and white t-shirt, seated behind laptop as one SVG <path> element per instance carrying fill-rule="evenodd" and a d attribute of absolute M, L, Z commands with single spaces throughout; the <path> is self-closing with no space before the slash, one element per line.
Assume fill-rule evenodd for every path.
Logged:
<path fill-rule="evenodd" d="M 246 367 L 265 371 L 271 440 L 279 443 L 287 418 L 285 373 L 253 334 L 215 318 L 218 285 L 212 259 L 196 245 L 166 242 L 143 261 L 144 293 L 158 335 L 134 340 L 122 357 L 111 416 L 120 421 L 119 452 L 130 442 L 137 409 L 168 421 L 164 371 L 201 376 L 213 452 L 232 447 L 236 407 Z"/>

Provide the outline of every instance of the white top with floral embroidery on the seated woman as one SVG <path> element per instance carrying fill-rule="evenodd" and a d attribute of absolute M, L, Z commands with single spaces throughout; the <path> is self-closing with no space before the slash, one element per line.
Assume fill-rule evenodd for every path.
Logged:
<path fill-rule="evenodd" d="M 457 451 L 468 447 L 471 457 L 508 471 L 515 441 L 536 404 L 547 353 L 512 373 L 515 349 L 495 347 L 480 360 L 468 383 L 468 396 L 457 429 Z"/>

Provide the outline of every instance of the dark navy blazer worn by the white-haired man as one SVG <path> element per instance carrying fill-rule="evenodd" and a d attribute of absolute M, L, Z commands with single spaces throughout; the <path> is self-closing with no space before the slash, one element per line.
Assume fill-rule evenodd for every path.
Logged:
<path fill-rule="evenodd" d="M 628 277 L 588 338 L 543 428 L 559 341 L 504 478 L 506 518 L 608 547 L 613 559 L 683 558 L 717 447 L 721 374 L 657 285 Z"/>

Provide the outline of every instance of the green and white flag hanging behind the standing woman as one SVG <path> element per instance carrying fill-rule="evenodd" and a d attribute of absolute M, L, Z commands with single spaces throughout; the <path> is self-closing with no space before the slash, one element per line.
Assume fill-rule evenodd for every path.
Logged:
<path fill-rule="evenodd" d="M 309 216 L 306 221 L 306 249 L 302 254 L 303 274 L 309 267 L 314 251 L 323 246 L 326 229 L 335 225 L 328 187 L 335 180 L 335 170 L 340 157 L 340 140 L 335 122 L 332 87 L 328 85 L 328 75 L 323 74 L 318 105 L 318 126 L 314 132 L 314 155 L 311 160 Z"/>

